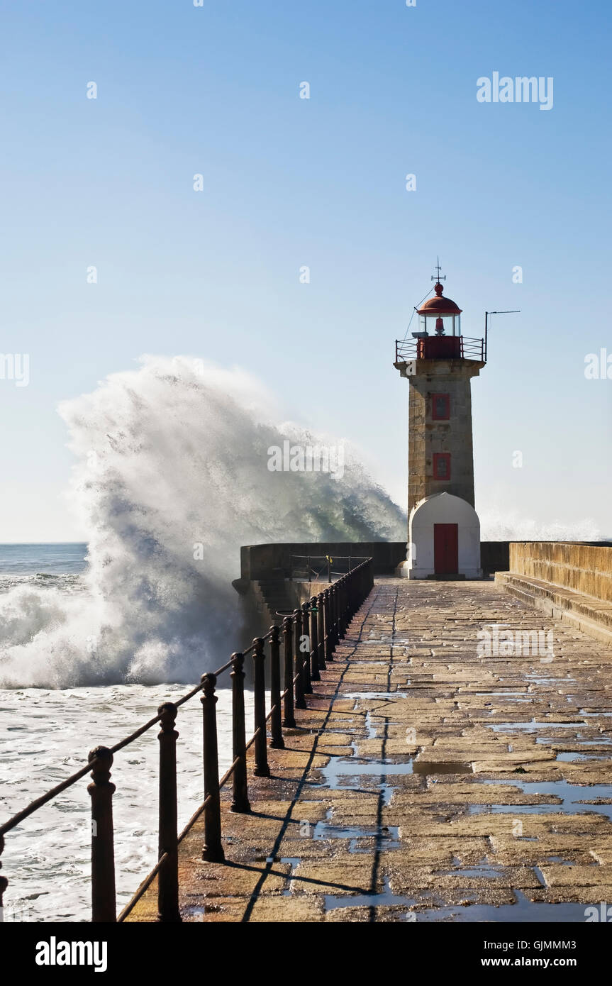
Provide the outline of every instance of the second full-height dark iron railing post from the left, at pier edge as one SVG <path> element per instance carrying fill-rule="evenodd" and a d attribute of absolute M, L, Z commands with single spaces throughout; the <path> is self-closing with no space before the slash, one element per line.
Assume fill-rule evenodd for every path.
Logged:
<path fill-rule="evenodd" d="M 176 842 L 176 706 L 158 709 L 160 732 L 160 830 L 158 858 L 167 854 L 158 876 L 158 921 L 180 921 L 178 910 L 178 845 Z"/>

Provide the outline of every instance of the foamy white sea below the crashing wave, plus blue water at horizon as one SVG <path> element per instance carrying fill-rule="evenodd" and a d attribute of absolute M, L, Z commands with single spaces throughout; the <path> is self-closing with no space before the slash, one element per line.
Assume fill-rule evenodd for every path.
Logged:
<path fill-rule="evenodd" d="M 87 544 L 0 544 L 0 593 L 18 587 L 86 593 Z M 76 772 L 90 749 L 111 746 L 176 700 L 184 683 L 115 683 L 0 690 L 0 821 Z M 245 694 L 252 716 L 252 693 Z M 220 766 L 232 762 L 231 692 L 218 702 Z M 177 718 L 178 826 L 201 804 L 201 706 L 197 696 Z M 158 730 L 116 756 L 112 781 L 117 911 L 155 866 Z M 89 775 L 6 835 L 3 875 L 9 880 L 4 920 L 88 921 L 91 915 Z"/>

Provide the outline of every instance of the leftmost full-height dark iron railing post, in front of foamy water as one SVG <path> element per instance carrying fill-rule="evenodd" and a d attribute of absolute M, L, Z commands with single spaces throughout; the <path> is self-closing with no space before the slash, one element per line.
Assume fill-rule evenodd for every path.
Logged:
<path fill-rule="evenodd" d="M 90 751 L 92 783 L 92 921 L 114 924 L 117 920 L 114 888 L 114 843 L 112 830 L 112 795 L 110 781 L 112 753 L 107 746 Z"/>

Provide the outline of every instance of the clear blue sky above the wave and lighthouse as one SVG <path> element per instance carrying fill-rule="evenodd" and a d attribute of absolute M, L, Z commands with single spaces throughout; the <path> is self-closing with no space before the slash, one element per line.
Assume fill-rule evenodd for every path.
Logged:
<path fill-rule="evenodd" d="M 0 380 L 0 539 L 82 536 L 55 407 L 141 353 L 247 368 L 403 505 L 394 339 L 437 254 L 466 335 L 521 310 L 472 387 L 479 513 L 612 534 L 612 381 L 584 377 L 612 355 L 611 21 L 568 0 L 5 10 L 0 351 L 31 383 Z M 480 104 L 494 71 L 553 77 L 553 108 Z"/>

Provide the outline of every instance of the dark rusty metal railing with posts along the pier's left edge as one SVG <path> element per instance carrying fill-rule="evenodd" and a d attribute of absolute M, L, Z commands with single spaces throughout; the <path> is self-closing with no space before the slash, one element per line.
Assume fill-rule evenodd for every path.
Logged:
<path fill-rule="evenodd" d="M 232 811 L 248 812 L 248 778 L 246 752 L 253 746 L 253 774 L 269 777 L 267 744 L 270 727 L 270 746 L 283 749 L 283 729 L 295 729 L 296 709 L 306 709 L 306 694 L 312 693 L 312 681 L 321 679 L 321 671 L 333 661 L 333 651 L 345 636 L 350 620 L 367 598 L 374 585 L 373 560 L 368 558 L 342 575 L 329 589 L 313 596 L 285 617 L 282 627 L 272 626 L 264 637 L 256 637 L 245 651 L 232 655 L 230 661 L 214 672 L 202 675 L 200 684 L 176 702 L 164 702 L 158 715 L 114 746 L 96 746 L 90 751 L 88 763 L 61 784 L 18 811 L 0 825 L 0 854 L 4 836 L 34 811 L 42 808 L 91 771 L 88 792 L 92 799 L 92 921 L 123 921 L 158 878 L 158 921 L 180 921 L 178 907 L 178 846 L 194 822 L 204 815 L 204 844 L 202 859 L 223 862 L 220 792 L 232 778 Z M 281 641 L 282 637 L 282 641 Z M 306 651 L 302 650 L 305 642 Z M 266 714 L 265 659 L 266 647 L 270 658 L 270 709 Z M 283 687 L 281 692 L 281 650 L 283 651 Z M 244 715 L 244 659 L 253 661 L 254 733 L 246 742 Z M 232 679 L 232 764 L 219 778 L 219 749 L 217 737 L 217 679 L 231 669 Z M 204 800 L 180 833 L 177 832 L 176 798 L 176 740 L 174 729 L 178 709 L 195 695 L 202 693 L 202 733 Z M 159 761 L 159 858 L 149 876 L 123 908 L 116 913 L 114 830 L 110 768 L 115 753 L 137 740 L 156 723 L 160 724 Z M 0 907 L 8 885 L 0 877 Z"/>

